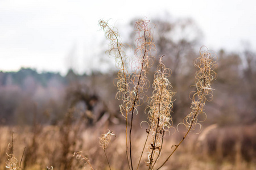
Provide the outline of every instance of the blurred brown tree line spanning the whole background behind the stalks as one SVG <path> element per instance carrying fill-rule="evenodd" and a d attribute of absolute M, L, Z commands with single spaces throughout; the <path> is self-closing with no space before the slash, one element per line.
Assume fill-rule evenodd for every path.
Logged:
<path fill-rule="evenodd" d="M 155 24 L 154 41 L 157 52 L 148 79 L 152 82 L 154 78 L 158 56 L 165 55 L 163 61 L 172 70 L 170 82 L 176 92 L 172 117 L 175 123 L 180 122 L 190 112 L 189 92 L 195 90 L 192 86 L 196 71 L 193 62 L 199 56 L 203 33 L 192 19 L 172 19 L 166 16 L 151 22 Z M 134 32 L 131 32 L 129 40 L 124 41 L 134 46 L 135 38 Z M 129 52 L 127 54 L 130 55 Z M 207 103 L 205 111 L 207 123 L 254 124 L 255 52 L 251 49 L 245 49 L 241 53 L 221 49 L 216 55 L 218 78 L 213 83 L 213 88 L 216 89 L 213 101 Z M 119 114 L 119 101 L 115 100 L 116 88 L 112 83 L 116 75 L 117 71 L 113 70 L 109 73 L 94 71 L 90 75 L 79 75 L 70 69 L 65 76 L 59 73 L 38 73 L 25 68 L 18 72 L 1 71 L 0 124 L 32 124 L 36 115 L 42 124 L 54 125 L 64 117 L 69 107 L 80 109 L 90 123 L 104 119 L 118 123 L 122 117 Z M 151 94 L 152 90 L 149 90 L 147 95 Z M 142 120 L 145 119 L 143 108 L 139 112 L 142 113 Z"/>

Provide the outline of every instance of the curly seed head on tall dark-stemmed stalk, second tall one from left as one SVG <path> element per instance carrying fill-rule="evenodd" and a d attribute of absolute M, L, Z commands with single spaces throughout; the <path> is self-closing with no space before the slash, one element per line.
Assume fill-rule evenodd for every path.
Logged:
<path fill-rule="evenodd" d="M 136 105 L 143 104 L 144 91 L 150 86 L 150 82 L 147 79 L 147 72 L 152 66 L 152 52 L 155 51 L 155 44 L 152 39 L 151 28 L 149 26 L 149 20 L 138 20 L 135 24 L 137 29 L 138 38 L 136 39 L 137 48 L 135 49 L 136 59 L 133 61 L 134 73 L 130 76 L 131 87 L 133 90 L 129 92 L 130 101 L 136 101 Z"/>

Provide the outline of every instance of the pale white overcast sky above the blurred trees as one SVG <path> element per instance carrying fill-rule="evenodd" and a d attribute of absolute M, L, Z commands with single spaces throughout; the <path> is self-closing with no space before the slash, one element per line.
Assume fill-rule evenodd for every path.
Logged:
<path fill-rule="evenodd" d="M 79 73 L 89 71 L 105 50 L 98 50 L 106 43 L 99 19 L 117 20 L 122 29 L 135 17 L 164 12 L 194 19 L 209 49 L 237 52 L 244 41 L 256 49 L 253 0 L 0 0 L 0 70 L 23 66 L 65 74 L 73 66 Z"/>

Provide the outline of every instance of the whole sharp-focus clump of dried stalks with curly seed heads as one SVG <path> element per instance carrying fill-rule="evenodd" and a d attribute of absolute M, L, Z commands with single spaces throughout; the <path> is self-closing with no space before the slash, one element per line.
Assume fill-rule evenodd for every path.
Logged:
<path fill-rule="evenodd" d="M 152 53 L 155 51 L 155 44 L 152 38 L 152 28 L 150 21 L 147 19 L 141 19 L 135 23 L 135 29 L 138 36 L 136 39 L 137 48 L 134 50 L 135 60 L 131 62 L 132 71 L 129 73 L 126 67 L 127 56 L 125 54 L 125 50 L 123 50 L 124 45 L 122 44 L 118 29 L 110 26 L 108 21 L 100 20 L 99 24 L 105 31 L 106 39 L 109 40 L 110 49 L 107 52 L 110 56 L 115 57 L 116 65 L 119 69 L 118 81 L 116 84 L 118 92 L 116 97 L 123 101 L 122 105 L 120 105 L 120 112 L 126 119 L 126 158 L 129 169 L 134 169 L 132 152 L 133 122 L 135 114 L 138 114 L 138 107 L 141 106 L 145 102 L 144 99 L 147 98 L 145 92 L 147 92 L 148 87 L 150 87 L 150 82 L 147 79 L 147 73 L 152 66 L 154 58 L 152 57 Z M 198 117 L 201 114 L 205 114 L 203 111 L 205 101 L 210 101 L 212 99 L 213 89 L 211 88 L 211 84 L 213 80 L 217 78 L 217 74 L 213 71 L 216 68 L 216 56 L 209 52 L 208 49 L 202 49 L 203 48 L 200 49 L 200 57 L 197 58 L 195 62 L 195 66 L 199 70 L 196 71 L 195 74 L 196 91 L 193 92 L 192 95 L 192 112 L 184 118 L 184 122 L 180 123 L 185 125 L 187 132 L 177 145 L 173 145 L 175 146 L 174 150 L 171 151 L 171 154 L 158 169 L 162 168 L 168 159 L 170 159 L 172 154 L 174 154 L 176 149 L 187 137 L 189 131 L 194 130 L 197 125 L 201 127 Z M 154 82 L 152 83 L 152 96 L 148 98 L 149 105 L 146 108 L 146 112 L 148 115 L 147 123 L 149 128 L 146 129 L 147 137 L 142 147 L 137 169 L 139 168 L 147 144 L 148 169 L 154 168 L 156 162 L 158 162 L 160 158 L 165 132 L 170 128 L 173 128 L 171 108 L 172 96 L 174 96 L 175 93 L 171 91 L 172 86 L 168 80 L 168 77 L 171 76 L 171 70 L 164 66 L 162 57 L 159 59 L 159 66 L 155 72 Z M 128 125 L 130 127 L 128 127 Z M 130 128 L 129 135 L 128 128 Z M 104 152 L 110 142 L 111 134 L 112 132 L 109 131 L 106 134 L 102 134 L 100 138 L 100 143 Z M 148 143 L 149 138 L 151 138 L 150 143 Z M 107 156 L 106 158 L 108 159 Z"/>

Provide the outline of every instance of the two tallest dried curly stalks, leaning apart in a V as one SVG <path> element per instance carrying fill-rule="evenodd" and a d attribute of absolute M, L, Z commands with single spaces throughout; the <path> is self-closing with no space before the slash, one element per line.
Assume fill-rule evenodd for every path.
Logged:
<path fill-rule="evenodd" d="M 113 54 L 117 61 L 117 67 L 120 69 L 118 72 L 117 82 L 117 99 L 121 99 L 123 104 L 120 106 L 121 113 L 126 118 L 126 157 L 129 169 L 133 169 L 132 159 L 132 140 L 131 131 L 133 128 L 134 114 L 137 114 L 137 107 L 143 104 L 144 91 L 147 91 L 150 83 L 147 80 L 147 71 L 152 65 L 152 52 L 155 50 L 155 44 L 152 42 L 151 28 L 148 27 L 149 20 L 138 20 L 135 24 L 137 29 L 138 38 L 137 48 L 135 49 L 136 59 L 133 61 L 133 73 L 128 74 L 126 65 L 126 54 L 122 50 L 122 43 L 119 40 L 119 34 L 117 28 L 110 27 L 108 22 L 100 20 L 100 26 L 105 31 L 106 38 L 110 41 L 108 50 L 109 54 Z M 130 160 L 128 155 L 128 114 L 131 115 L 130 131 L 129 131 L 129 143 L 130 143 Z"/>

